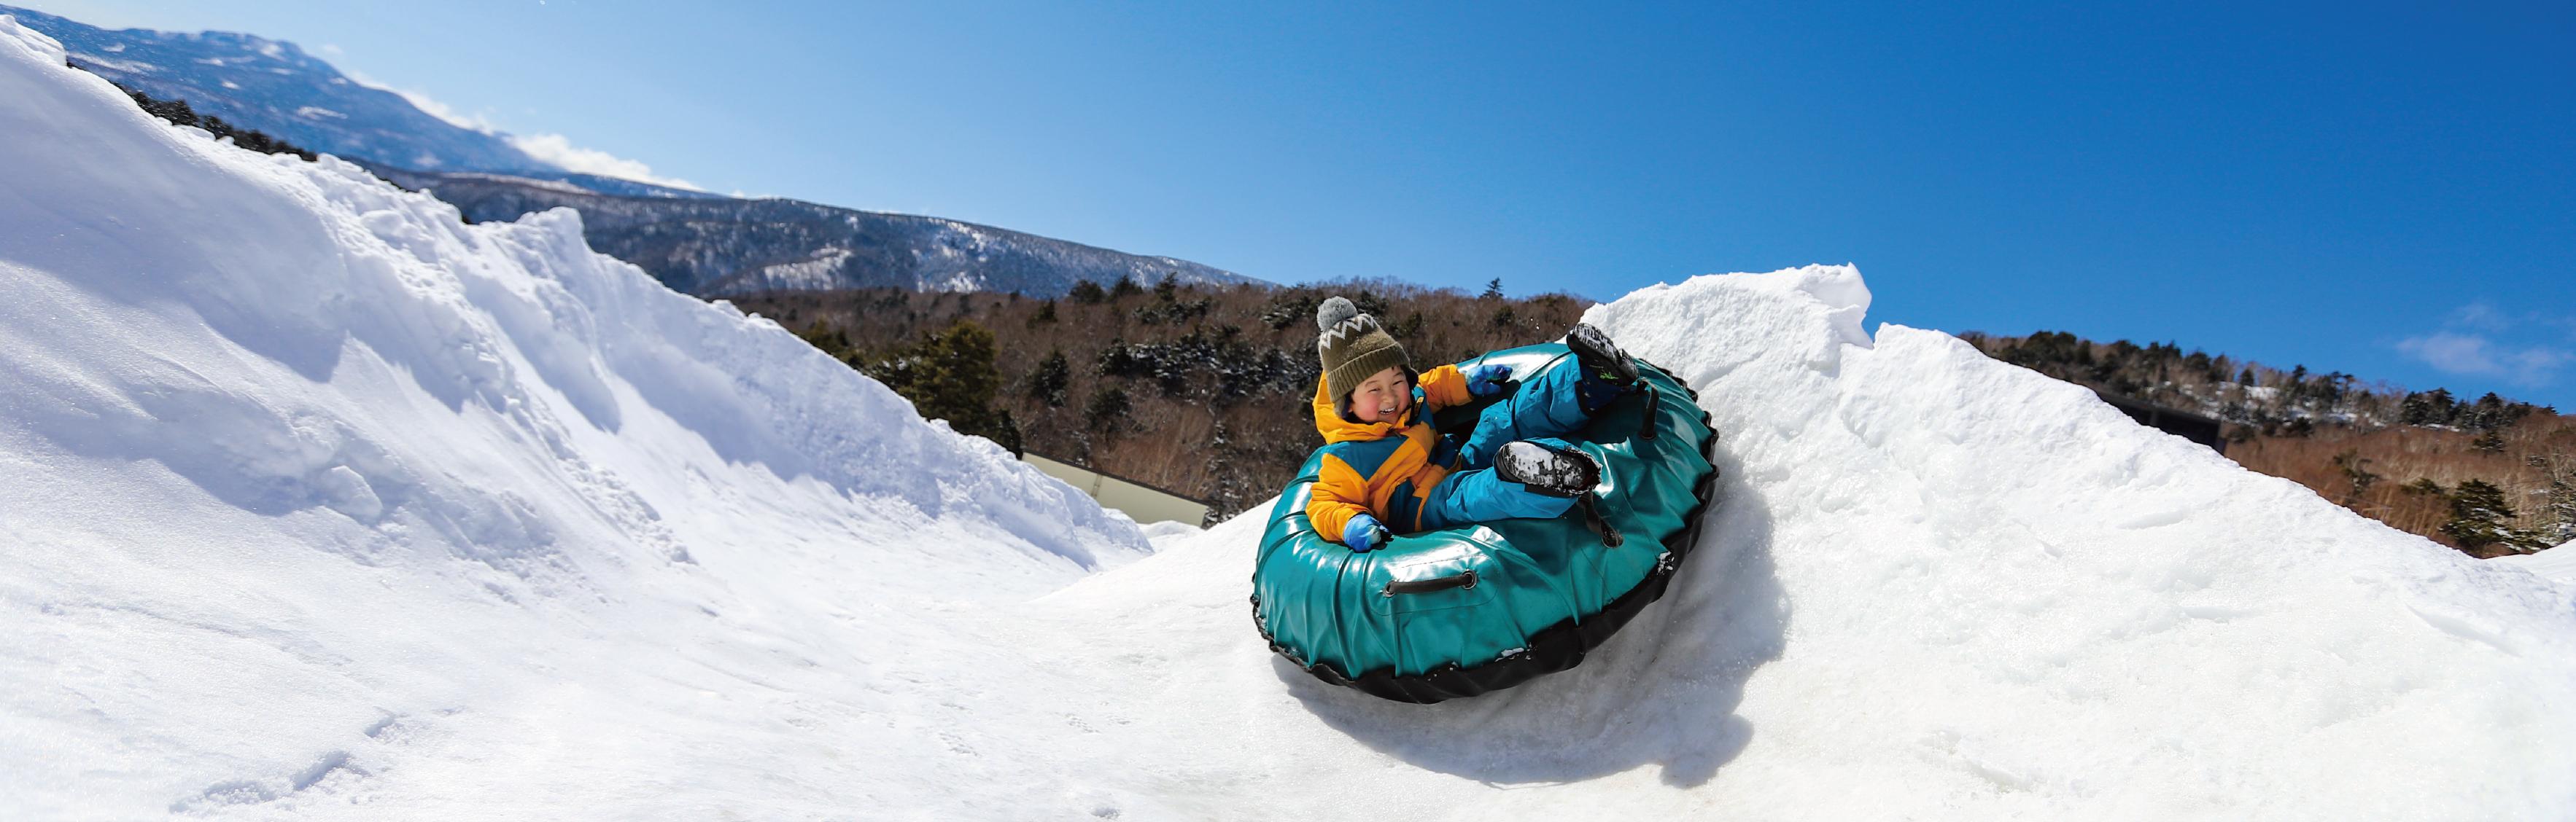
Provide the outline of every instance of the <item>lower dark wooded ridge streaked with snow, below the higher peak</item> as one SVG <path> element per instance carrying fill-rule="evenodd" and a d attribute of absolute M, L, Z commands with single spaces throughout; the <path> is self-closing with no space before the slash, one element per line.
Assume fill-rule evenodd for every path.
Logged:
<path fill-rule="evenodd" d="M 819 206 L 788 198 L 616 196 L 513 175 L 404 173 L 381 178 L 430 191 L 474 222 L 546 209 L 582 211 L 590 247 L 636 263 L 662 283 L 701 294 L 896 286 L 1061 296 L 1079 281 L 1252 283 L 1175 258 L 1128 255 L 971 222 Z"/>

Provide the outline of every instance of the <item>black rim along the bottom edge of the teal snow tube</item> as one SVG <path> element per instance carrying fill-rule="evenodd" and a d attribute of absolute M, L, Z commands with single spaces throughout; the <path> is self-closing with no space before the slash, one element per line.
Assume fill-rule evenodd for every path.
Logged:
<path fill-rule="evenodd" d="M 1656 371 L 1664 368 L 1656 366 Z M 1332 662 L 1306 665 L 1306 660 L 1298 660 L 1293 649 L 1270 636 L 1270 626 L 1262 624 L 1262 598 L 1255 593 L 1252 624 L 1262 631 L 1262 642 L 1270 644 L 1270 652 L 1285 657 L 1291 665 L 1298 665 L 1316 680 L 1409 703 L 1437 703 L 1437 701 L 1502 691 L 1548 673 L 1582 665 L 1592 649 L 1597 649 L 1602 642 L 1610 642 L 1610 636 L 1618 634 L 1618 629 L 1628 626 L 1628 621 L 1636 618 L 1641 611 L 1646 611 L 1646 606 L 1664 598 L 1664 590 L 1672 585 L 1672 575 L 1682 569 L 1682 562 L 1690 559 L 1692 546 L 1700 544 L 1700 528 L 1705 526 L 1708 505 L 1716 502 L 1718 474 L 1721 474 L 1718 428 L 1710 425 L 1708 410 L 1700 407 L 1700 392 L 1690 387 L 1690 381 L 1674 376 L 1672 371 L 1664 371 L 1664 376 L 1669 376 L 1674 384 L 1682 387 L 1682 394 L 1690 397 L 1690 407 L 1700 412 L 1700 425 L 1708 425 L 1708 443 L 1700 443 L 1700 456 L 1708 459 L 1708 477 L 1700 477 L 1700 482 L 1692 484 L 1690 490 L 1690 497 L 1695 502 L 1690 505 L 1687 513 L 1682 513 L 1682 531 L 1664 536 L 1664 559 L 1656 562 L 1654 569 L 1649 569 L 1646 577 L 1636 582 L 1636 588 L 1628 588 L 1628 593 L 1610 600 L 1610 606 L 1605 606 L 1600 613 L 1566 616 L 1546 629 L 1533 631 L 1525 655 L 1484 662 L 1476 667 L 1463 667 L 1458 662 L 1440 662 L 1437 667 L 1414 675 L 1396 675 L 1394 667 L 1376 667 L 1352 678 L 1340 667 L 1334 667 Z M 1654 394 L 1649 392 L 1646 397 Z"/>

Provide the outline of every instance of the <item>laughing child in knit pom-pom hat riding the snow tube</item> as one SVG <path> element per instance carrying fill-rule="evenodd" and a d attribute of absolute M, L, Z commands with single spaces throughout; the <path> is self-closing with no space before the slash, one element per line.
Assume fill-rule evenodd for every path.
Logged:
<path fill-rule="evenodd" d="M 1641 387 L 1628 353 L 1577 325 L 1566 345 L 1582 368 L 1543 371 L 1486 407 L 1476 433 L 1455 443 L 1432 430 L 1430 412 L 1499 394 L 1512 368 L 1437 366 L 1417 379 L 1404 345 L 1350 299 L 1327 299 L 1314 322 L 1324 361 L 1314 428 L 1324 448 L 1306 521 L 1352 551 L 1386 546 L 1394 533 L 1566 513 L 1600 484 L 1600 464 L 1561 435 Z"/>

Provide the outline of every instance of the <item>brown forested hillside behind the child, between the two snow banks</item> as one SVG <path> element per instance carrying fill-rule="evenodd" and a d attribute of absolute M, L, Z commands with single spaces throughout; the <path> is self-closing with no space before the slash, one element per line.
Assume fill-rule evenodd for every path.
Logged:
<path fill-rule="evenodd" d="M 907 289 L 734 299 L 896 387 L 927 417 L 1010 448 L 1206 500 L 1218 518 L 1275 495 L 1321 446 L 1314 307 L 1378 314 L 1417 368 L 1546 343 L 1582 317 L 1564 294 L 1409 283 L 1077 286 L 1064 299 Z M 989 366 L 987 366 L 989 363 Z"/>

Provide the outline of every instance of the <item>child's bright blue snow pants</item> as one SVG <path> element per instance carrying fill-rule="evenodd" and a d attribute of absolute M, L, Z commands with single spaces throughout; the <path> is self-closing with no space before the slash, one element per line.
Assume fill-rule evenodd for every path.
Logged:
<path fill-rule="evenodd" d="M 1551 448 L 1569 448 L 1564 435 L 1592 423 L 1579 392 L 1584 368 L 1546 368 L 1522 381 L 1512 397 L 1486 405 L 1476 417 L 1476 433 L 1458 446 L 1461 469 L 1432 484 L 1422 500 L 1422 528 L 1458 528 L 1481 521 L 1558 518 L 1574 508 L 1571 497 L 1548 497 L 1520 482 L 1494 474 L 1494 454 L 1515 441 L 1533 441 Z M 1597 389 L 1595 389 L 1597 392 Z"/>

